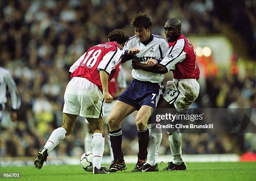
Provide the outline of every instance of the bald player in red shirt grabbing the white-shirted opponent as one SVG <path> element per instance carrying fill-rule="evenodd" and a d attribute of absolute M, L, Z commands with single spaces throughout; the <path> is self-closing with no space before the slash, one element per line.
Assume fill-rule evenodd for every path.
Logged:
<path fill-rule="evenodd" d="M 191 42 L 184 37 L 181 29 L 181 22 L 177 18 L 166 21 L 164 33 L 169 42 L 169 50 L 161 62 L 158 63 L 157 60 L 150 59 L 142 65 L 138 61 L 133 61 L 134 69 L 162 74 L 172 70 L 174 79 L 167 82 L 166 92 L 164 92 L 157 108 L 176 108 L 177 112 L 186 111 L 197 99 L 199 84 L 196 80 L 199 79 L 200 75 L 195 49 Z M 174 160 L 169 162 L 164 170 L 186 170 L 187 166 L 181 157 L 182 137 L 179 129 L 168 135 Z M 147 163 L 143 165 L 141 171 L 158 171 L 157 156 L 161 136 L 161 134 L 150 133 Z"/>

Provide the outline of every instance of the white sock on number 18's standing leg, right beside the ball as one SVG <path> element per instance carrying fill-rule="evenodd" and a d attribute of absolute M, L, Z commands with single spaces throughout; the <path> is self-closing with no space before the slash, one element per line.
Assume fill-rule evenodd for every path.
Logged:
<path fill-rule="evenodd" d="M 102 160 L 103 152 L 104 152 L 104 142 L 105 138 L 101 133 L 93 134 L 92 138 L 92 165 L 100 169 L 100 162 Z"/>

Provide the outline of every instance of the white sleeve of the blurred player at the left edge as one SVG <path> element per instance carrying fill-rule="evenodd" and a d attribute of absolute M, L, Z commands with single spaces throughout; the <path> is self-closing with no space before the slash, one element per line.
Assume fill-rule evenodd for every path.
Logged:
<path fill-rule="evenodd" d="M 18 90 L 16 87 L 16 84 L 13 80 L 13 77 L 11 76 L 10 72 L 6 74 L 6 84 L 8 87 L 8 91 L 10 92 L 10 98 L 12 103 L 12 108 L 14 110 L 17 110 L 20 108 L 20 97 L 18 94 Z"/>

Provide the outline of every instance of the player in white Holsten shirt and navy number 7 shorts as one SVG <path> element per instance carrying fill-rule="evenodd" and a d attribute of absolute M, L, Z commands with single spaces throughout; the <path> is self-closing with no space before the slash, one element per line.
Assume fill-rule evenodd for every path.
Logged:
<path fill-rule="evenodd" d="M 168 44 L 159 35 L 151 34 L 151 20 L 148 15 L 136 14 L 131 20 L 131 26 L 135 30 L 123 48 L 122 62 L 127 60 L 139 60 L 141 64 L 148 59 L 161 59 L 168 50 Z M 118 97 L 110 115 L 108 124 L 110 128 L 110 141 L 113 149 L 114 162 L 110 165 L 110 172 L 125 169 L 123 159 L 122 130 L 120 123 L 134 111 L 138 110 L 136 116 L 136 127 L 138 129 L 139 153 L 138 162 L 132 172 L 140 171 L 147 159 L 147 146 L 149 140 L 148 118 L 156 108 L 159 98 L 164 92 L 162 80 L 164 74 L 147 72 L 141 69 L 133 69 L 134 80 L 130 87 Z"/>

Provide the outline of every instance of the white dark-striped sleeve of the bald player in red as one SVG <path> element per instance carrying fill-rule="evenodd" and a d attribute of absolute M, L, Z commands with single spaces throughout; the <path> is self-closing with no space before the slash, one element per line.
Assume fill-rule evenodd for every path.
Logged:
<path fill-rule="evenodd" d="M 169 48 L 164 59 L 159 63 L 169 70 L 175 69 L 175 64 L 182 62 L 186 58 L 185 39 L 177 40 L 176 44 Z"/>

